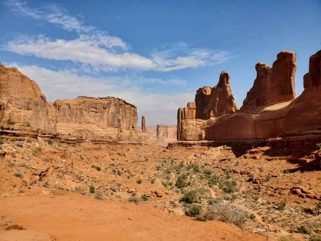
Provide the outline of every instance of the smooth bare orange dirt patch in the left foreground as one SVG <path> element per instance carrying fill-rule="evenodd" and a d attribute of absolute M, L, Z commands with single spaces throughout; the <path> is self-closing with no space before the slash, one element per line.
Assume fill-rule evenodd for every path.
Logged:
<path fill-rule="evenodd" d="M 0 240 L 265 240 L 226 223 L 65 193 L 1 199 L 0 215 L 25 230 L 2 226 Z"/>

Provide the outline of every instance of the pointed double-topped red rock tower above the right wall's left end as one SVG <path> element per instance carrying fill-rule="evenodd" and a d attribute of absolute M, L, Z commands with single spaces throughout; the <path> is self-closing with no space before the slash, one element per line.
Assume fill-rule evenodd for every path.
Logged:
<path fill-rule="evenodd" d="M 199 88 L 195 95 L 196 119 L 208 119 L 239 110 L 234 103 L 230 87 L 230 76 L 226 71 L 220 75 L 219 83 L 210 89 L 209 86 Z"/>

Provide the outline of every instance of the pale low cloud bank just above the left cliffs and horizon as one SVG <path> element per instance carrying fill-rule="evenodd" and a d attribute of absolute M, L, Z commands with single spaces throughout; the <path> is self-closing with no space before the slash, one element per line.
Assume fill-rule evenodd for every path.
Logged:
<path fill-rule="evenodd" d="M 137 79 L 129 77 L 95 78 L 78 76 L 72 71 L 53 71 L 37 66 L 17 67 L 24 75 L 36 81 L 47 101 L 56 99 L 73 99 L 78 95 L 104 97 L 115 96 L 137 106 L 139 117 L 144 115 L 148 125 L 157 123 L 175 124 L 177 110 L 193 101 L 195 93 L 151 94 L 143 89 L 129 85 L 137 83 Z M 151 81 L 147 79 L 146 81 Z M 168 81 L 164 81 L 166 83 Z M 139 121 L 139 120 L 138 120 Z"/>

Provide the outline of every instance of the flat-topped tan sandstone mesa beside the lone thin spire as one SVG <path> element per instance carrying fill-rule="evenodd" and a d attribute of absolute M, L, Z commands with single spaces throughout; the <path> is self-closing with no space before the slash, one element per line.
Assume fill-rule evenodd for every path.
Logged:
<path fill-rule="evenodd" d="M 72 100 L 56 100 L 49 105 L 59 133 L 119 141 L 144 139 L 136 131 L 136 106 L 124 100 L 78 96 Z"/>

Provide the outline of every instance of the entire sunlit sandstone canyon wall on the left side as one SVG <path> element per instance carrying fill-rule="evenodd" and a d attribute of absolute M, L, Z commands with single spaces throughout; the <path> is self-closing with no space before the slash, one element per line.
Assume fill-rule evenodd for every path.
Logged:
<path fill-rule="evenodd" d="M 85 96 L 48 103 L 35 81 L 1 63 L 0 123 L 71 137 L 149 141 L 148 133 L 137 132 L 136 106 L 114 97 Z"/>

